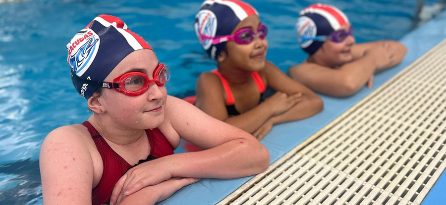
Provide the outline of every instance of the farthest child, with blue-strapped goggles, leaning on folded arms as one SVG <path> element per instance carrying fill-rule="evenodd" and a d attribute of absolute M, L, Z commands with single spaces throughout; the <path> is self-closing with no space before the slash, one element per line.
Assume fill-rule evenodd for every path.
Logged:
<path fill-rule="evenodd" d="M 406 47 L 397 41 L 356 43 L 347 16 L 331 5 L 304 8 L 296 23 L 300 47 L 309 54 L 288 74 L 316 92 L 344 97 L 365 84 L 372 87 L 375 73 L 401 62 Z"/>

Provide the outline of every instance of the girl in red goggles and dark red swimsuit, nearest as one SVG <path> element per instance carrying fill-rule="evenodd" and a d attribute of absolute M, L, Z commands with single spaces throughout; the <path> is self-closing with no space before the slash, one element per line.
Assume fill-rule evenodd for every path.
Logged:
<path fill-rule="evenodd" d="M 93 115 L 45 138 L 44 204 L 152 205 L 198 178 L 268 166 L 268 150 L 249 133 L 168 96 L 168 67 L 121 19 L 96 17 L 67 50 L 73 84 Z M 180 138 L 205 150 L 173 154 Z"/>

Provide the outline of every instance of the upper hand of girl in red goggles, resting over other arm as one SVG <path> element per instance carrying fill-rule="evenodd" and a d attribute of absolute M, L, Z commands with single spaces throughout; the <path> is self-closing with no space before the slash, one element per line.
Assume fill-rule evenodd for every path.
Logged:
<path fill-rule="evenodd" d="M 123 198 L 140 189 L 156 185 L 172 178 L 172 172 L 160 159 L 152 160 L 129 169 L 114 185 L 110 205 L 115 205 L 118 197 Z"/>

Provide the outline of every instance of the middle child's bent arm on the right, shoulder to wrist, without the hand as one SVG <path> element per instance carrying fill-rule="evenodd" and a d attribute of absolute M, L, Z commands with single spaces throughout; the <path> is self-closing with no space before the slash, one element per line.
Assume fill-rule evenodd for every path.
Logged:
<path fill-rule="evenodd" d="M 295 93 L 302 94 L 301 102 L 295 104 L 288 111 L 270 119 L 273 124 L 308 118 L 321 112 L 324 108 L 324 103 L 319 96 L 305 85 L 290 79 L 279 68 L 268 61 L 265 66 L 264 74 L 267 78 L 268 86 L 271 88 L 288 95 Z"/>

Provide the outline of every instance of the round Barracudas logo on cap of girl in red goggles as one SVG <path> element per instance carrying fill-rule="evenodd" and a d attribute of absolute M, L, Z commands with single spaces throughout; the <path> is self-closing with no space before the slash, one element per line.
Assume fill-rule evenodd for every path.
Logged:
<path fill-rule="evenodd" d="M 74 73 L 79 76 L 85 73 L 98 53 L 99 43 L 99 36 L 93 30 L 87 29 L 85 32 L 77 33 L 66 45 L 68 63 Z"/>

